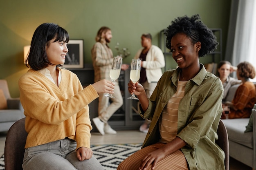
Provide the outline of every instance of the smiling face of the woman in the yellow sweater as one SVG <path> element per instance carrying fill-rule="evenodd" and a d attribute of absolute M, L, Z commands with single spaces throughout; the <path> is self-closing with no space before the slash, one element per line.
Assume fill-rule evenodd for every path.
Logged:
<path fill-rule="evenodd" d="M 56 66 L 58 64 L 64 64 L 68 49 L 67 43 L 64 41 L 54 42 L 54 40 L 55 39 L 52 39 L 47 43 L 45 51 L 49 62 Z"/>

